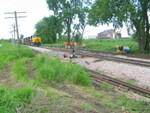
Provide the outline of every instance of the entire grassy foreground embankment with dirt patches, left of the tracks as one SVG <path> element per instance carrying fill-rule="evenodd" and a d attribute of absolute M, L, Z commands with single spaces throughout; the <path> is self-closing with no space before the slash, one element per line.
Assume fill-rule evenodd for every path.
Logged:
<path fill-rule="evenodd" d="M 149 104 L 120 95 L 103 83 L 92 86 L 90 74 L 83 67 L 64 63 L 55 57 L 35 54 L 22 46 L 0 47 L 0 77 L 10 67 L 15 84 L 0 81 L 0 113 L 22 112 L 148 112 Z M 8 73 L 7 73 L 8 76 Z M 5 78 L 7 79 L 7 78 Z M 107 95 L 106 95 L 107 93 Z"/>

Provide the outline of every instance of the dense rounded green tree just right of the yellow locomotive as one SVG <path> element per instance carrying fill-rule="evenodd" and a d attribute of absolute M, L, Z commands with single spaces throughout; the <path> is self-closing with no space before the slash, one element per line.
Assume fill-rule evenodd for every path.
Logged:
<path fill-rule="evenodd" d="M 36 25 L 36 33 L 42 36 L 43 43 L 55 43 L 56 34 L 61 34 L 63 26 L 61 19 L 55 16 L 44 17 Z"/>

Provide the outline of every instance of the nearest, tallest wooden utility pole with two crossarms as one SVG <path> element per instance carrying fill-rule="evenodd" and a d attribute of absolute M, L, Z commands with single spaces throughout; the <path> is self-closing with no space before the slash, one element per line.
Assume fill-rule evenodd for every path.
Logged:
<path fill-rule="evenodd" d="M 7 12 L 7 13 L 4 13 L 4 14 L 14 14 L 14 17 L 5 17 L 5 19 L 8 19 L 8 18 L 15 18 L 15 24 L 16 24 L 16 32 L 17 32 L 17 42 L 18 42 L 18 47 L 20 48 L 20 40 L 19 40 L 19 30 L 18 30 L 18 21 L 17 21 L 17 18 L 24 18 L 26 16 L 17 16 L 17 14 L 19 13 L 26 13 L 26 12 Z"/>

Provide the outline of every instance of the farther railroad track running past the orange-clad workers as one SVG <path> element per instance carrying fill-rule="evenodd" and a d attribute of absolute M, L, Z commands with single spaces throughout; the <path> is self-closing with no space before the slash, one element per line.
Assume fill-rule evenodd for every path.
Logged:
<path fill-rule="evenodd" d="M 72 52 L 72 49 L 56 48 L 56 47 L 44 47 L 44 48 L 51 48 L 53 50 L 60 50 L 64 52 Z M 115 57 L 114 55 L 116 55 L 116 53 L 109 54 L 108 52 L 101 52 L 101 51 L 99 52 L 96 50 L 80 50 L 80 49 L 76 49 L 75 53 L 78 55 L 85 55 L 85 56 L 90 56 L 90 57 L 95 57 L 95 58 L 100 58 L 100 59 L 105 59 L 105 60 L 110 60 L 110 61 L 150 67 L 150 61 Z"/>

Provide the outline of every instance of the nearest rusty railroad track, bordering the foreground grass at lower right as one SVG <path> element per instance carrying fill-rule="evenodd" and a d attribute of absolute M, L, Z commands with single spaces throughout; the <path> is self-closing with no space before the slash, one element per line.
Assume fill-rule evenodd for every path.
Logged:
<path fill-rule="evenodd" d="M 117 87 L 125 87 L 128 90 L 131 90 L 135 93 L 139 93 L 143 96 L 150 98 L 150 90 L 147 90 L 147 89 L 144 89 L 144 88 L 132 85 L 132 84 L 128 84 L 126 82 L 114 79 L 114 78 L 109 77 L 109 76 L 101 75 L 100 73 L 92 71 L 92 70 L 87 70 L 87 71 L 92 74 L 91 77 L 97 82 L 105 81 L 105 82 L 108 82 L 108 83 L 115 85 Z"/>

